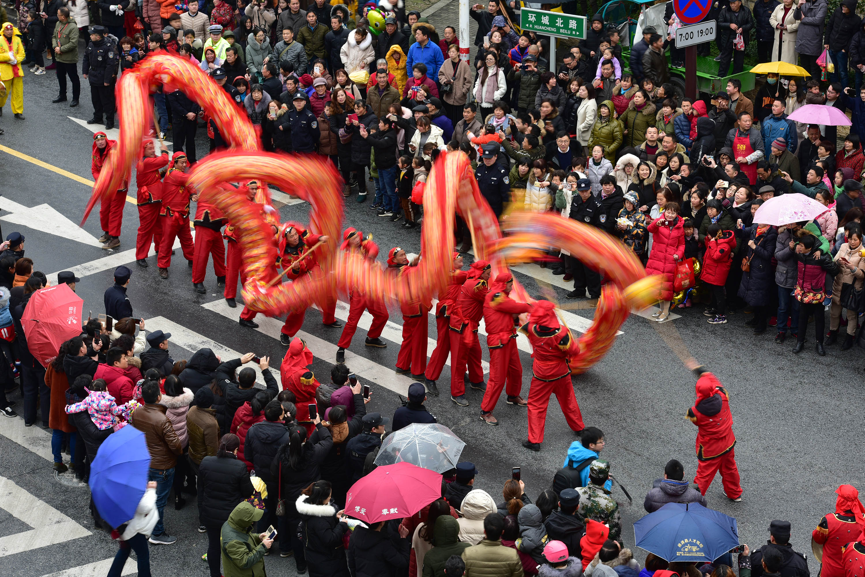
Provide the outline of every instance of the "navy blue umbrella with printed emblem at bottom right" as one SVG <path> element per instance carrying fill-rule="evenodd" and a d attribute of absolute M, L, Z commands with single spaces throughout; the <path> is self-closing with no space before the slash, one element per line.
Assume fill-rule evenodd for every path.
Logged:
<path fill-rule="evenodd" d="M 670 562 L 712 562 L 739 545 L 736 520 L 699 503 L 665 504 L 634 523 L 634 537 Z"/>

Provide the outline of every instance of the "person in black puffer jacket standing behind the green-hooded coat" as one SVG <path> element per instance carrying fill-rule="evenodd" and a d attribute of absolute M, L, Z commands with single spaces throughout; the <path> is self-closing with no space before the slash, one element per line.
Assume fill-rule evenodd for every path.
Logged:
<path fill-rule="evenodd" d="M 222 525 L 238 503 L 253 496 L 247 465 L 237 458 L 240 439 L 227 433 L 220 439 L 215 457 L 202 458 L 198 468 L 198 523 L 208 534 L 210 577 L 220 577 L 220 536 Z"/>

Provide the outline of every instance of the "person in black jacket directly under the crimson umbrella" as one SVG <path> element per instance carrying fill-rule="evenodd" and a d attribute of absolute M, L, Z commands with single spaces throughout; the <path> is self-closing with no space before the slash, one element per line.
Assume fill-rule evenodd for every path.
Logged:
<path fill-rule="evenodd" d="M 349 539 L 349 569 L 355 577 L 395 577 L 408 569 L 412 541 L 407 527 L 399 535 L 384 521 L 358 526 Z"/>

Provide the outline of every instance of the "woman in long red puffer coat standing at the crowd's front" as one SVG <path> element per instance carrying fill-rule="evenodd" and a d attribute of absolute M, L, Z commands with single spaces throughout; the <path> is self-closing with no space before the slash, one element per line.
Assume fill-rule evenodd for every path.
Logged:
<path fill-rule="evenodd" d="M 647 274 L 663 275 L 661 291 L 661 310 L 655 317 L 658 323 L 663 323 L 670 317 L 670 302 L 673 300 L 673 275 L 676 274 L 676 264 L 685 254 L 684 221 L 679 216 L 677 202 L 667 202 L 663 207 L 663 215 L 649 225 L 652 234 L 651 253 L 646 263 Z"/>

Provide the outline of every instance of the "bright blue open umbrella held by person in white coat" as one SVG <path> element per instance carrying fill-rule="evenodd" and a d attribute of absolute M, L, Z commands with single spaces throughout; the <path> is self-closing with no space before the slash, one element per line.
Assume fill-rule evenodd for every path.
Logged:
<path fill-rule="evenodd" d="M 90 465 L 90 492 L 99 515 L 117 528 L 135 516 L 147 489 L 151 453 L 144 433 L 127 425 L 99 446 Z"/>

